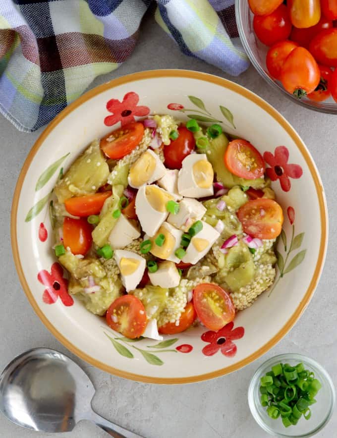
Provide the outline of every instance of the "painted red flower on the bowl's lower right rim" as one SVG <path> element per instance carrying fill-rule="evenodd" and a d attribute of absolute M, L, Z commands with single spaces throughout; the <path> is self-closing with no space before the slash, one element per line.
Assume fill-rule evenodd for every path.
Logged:
<path fill-rule="evenodd" d="M 240 339 L 244 335 L 243 327 L 236 327 L 233 330 L 234 323 L 230 322 L 225 327 L 218 331 L 206 331 L 201 335 L 201 339 L 209 342 L 202 349 L 205 356 L 213 356 L 219 350 L 224 356 L 233 357 L 236 354 L 236 345 L 232 342 L 235 339 Z"/>

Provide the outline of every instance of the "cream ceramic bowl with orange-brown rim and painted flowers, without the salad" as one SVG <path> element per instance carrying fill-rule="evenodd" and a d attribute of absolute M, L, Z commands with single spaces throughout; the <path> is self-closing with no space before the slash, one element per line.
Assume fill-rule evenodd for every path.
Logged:
<path fill-rule="evenodd" d="M 127 100 L 114 120 L 107 119 L 112 115 L 107 102 L 122 101 L 130 92 L 138 95 L 128 95 L 133 98 L 132 106 Z M 136 105 L 143 108 L 137 110 Z M 233 328 L 230 324 L 207 335 L 203 335 L 208 331 L 205 328 L 191 329 L 165 336 L 159 347 L 151 347 L 158 342 L 147 339 L 117 340 L 120 335 L 107 328 L 103 318 L 89 313 L 76 299 L 69 305 L 71 298 L 64 290 L 57 265 L 52 274 L 45 273 L 44 284 L 38 279 L 39 272 L 51 273 L 56 263 L 48 197 L 60 167 L 66 169 L 93 139 L 118 127 L 117 120 L 122 116 L 147 112 L 169 113 L 182 120 L 189 114 L 204 121 L 219 120 L 225 131 L 242 136 L 260 152 L 269 151 L 273 156 L 277 147 L 284 146 L 277 150 L 275 159 L 269 160 L 268 167 L 273 172 L 278 165 L 278 173 L 281 168 L 283 189 L 289 189 L 281 188 L 280 179 L 272 183 L 284 212 L 283 238 L 278 244 L 278 265 L 283 275 L 278 272 L 273 290 L 239 312 Z M 116 124 L 107 126 L 105 122 Z M 299 176 L 299 167 L 302 175 L 289 177 Z M 239 85 L 184 70 L 134 73 L 101 85 L 70 104 L 48 125 L 29 153 L 15 189 L 11 218 L 16 269 L 31 305 L 48 329 L 92 365 L 152 383 L 211 379 L 239 369 L 273 347 L 295 324 L 314 293 L 324 264 L 327 228 L 326 201 L 316 166 L 281 114 Z M 62 299 L 56 299 L 62 291 Z"/>

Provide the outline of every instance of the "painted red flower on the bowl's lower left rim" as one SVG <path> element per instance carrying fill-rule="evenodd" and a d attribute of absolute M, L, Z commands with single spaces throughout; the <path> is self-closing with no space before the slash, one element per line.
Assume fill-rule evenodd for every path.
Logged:
<path fill-rule="evenodd" d="M 42 299 L 46 304 L 53 304 L 60 297 L 64 306 L 72 306 L 74 300 L 68 294 L 68 280 L 63 278 L 63 268 L 59 263 L 53 263 L 51 273 L 42 270 L 38 274 L 38 280 L 46 289 L 43 293 Z"/>

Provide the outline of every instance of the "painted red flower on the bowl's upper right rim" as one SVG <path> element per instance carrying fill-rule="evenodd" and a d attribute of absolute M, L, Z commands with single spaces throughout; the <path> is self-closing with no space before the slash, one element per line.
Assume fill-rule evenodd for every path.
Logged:
<path fill-rule="evenodd" d="M 278 146 L 275 149 L 275 155 L 271 152 L 263 154 L 265 162 L 270 165 L 266 169 L 267 176 L 272 181 L 280 179 L 281 188 L 284 192 L 288 192 L 291 187 L 290 179 L 298 179 L 302 176 L 303 170 L 299 164 L 288 164 L 289 151 L 285 146 Z"/>

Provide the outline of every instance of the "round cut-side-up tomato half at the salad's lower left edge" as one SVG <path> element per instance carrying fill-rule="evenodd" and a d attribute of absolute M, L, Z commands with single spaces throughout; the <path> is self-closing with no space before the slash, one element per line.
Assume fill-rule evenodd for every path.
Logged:
<path fill-rule="evenodd" d="M 115 299 L 107 312 L 107 323 L 112 330 L 135 339 L 144 333 L 147 317 L 143 303 L 134 295 Z"/>

